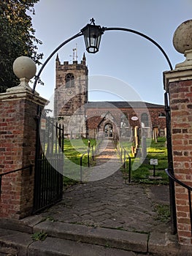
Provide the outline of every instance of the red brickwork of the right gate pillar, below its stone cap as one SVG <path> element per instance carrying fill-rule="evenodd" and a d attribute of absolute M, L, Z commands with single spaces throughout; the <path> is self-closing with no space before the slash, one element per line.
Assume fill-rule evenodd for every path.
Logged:
<path fill-rule="evenodd" d="M 192 187 L 192 80 L 169 84 L 174 175 Z M 175 186 L 177 232 L 180 242 L 191 244 L 188 191 Z"/>

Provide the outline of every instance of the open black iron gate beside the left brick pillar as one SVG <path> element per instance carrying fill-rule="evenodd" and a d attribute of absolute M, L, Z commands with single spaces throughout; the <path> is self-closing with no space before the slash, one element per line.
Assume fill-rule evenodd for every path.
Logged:
<path fill-rule="evenodd" d="M 33 213 L 52 206 L 63 196 L 64 126 L 37 109 L 37 145 Z"/>

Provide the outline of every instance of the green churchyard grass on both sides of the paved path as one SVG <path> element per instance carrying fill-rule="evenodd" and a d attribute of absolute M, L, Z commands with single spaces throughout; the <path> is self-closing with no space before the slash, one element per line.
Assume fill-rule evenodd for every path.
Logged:
<path fill-rule="evenodd" d="M 91 139 L 91 146 L 96 144 L 96 140 Z M 121 143 L 131 156 L 130 142 Z M 64 187 L 80 181 L 80 157 L 88 149 L 88 139 L 64 140 Z M 148 163 L 141 163 L 139 158 L 131 156 L 131 181 L 141 184 L 169 184 L 169 178 L 165 173 L 167 163 L 166 138 L 158 138 L 158 142 L 147 139 L 147 159 Z M 155 176 L 161 176 L 160 180 L 149 178 L 153 176 L 153 165 L 150 159 L 158 159 L 155 165 Z M 91 162 L 93 165 L 94 162 Z M 82 166 L 88 166 L 88 155 L 82 157 Z M 128 179 L 128 160 L 126 169 L 122 167 L 123 178 Z"/>

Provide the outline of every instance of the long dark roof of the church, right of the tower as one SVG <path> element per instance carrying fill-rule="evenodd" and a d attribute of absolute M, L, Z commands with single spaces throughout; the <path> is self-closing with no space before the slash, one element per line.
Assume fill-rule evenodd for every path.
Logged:
<path fill-rule="evenodd" d="M 164 108 L 149 102 L 88 102 L 86 108 Z"/>

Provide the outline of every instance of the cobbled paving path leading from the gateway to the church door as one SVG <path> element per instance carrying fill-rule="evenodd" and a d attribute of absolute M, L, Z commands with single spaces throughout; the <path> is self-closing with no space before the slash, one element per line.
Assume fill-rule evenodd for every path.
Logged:
<path fill-rule="evenodd" d="M 96 160 L 98 172 L 113 173 L 109 161 L 113 166 L 118 162 L 112 141 Z M 93 173 L 92 178 L 96 178 Z M 122 173 L 117 170 L 107 178 L 66 189 L 63 200 L 41 215 L 61 222 L 96 227 L 147 233 L 170 232 L 169 223 L 157 219 L 156 204 L 169 205 L 169 187 L 125 184 Z"/>

